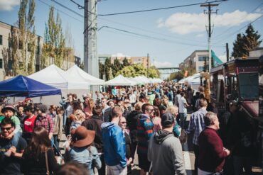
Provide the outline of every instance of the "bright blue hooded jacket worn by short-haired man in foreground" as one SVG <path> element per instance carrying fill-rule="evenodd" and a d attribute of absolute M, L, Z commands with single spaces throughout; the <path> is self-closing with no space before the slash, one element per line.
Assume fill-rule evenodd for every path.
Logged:
<path fill-rule="evenodd" d="M 122 128 L 112 122 L 102 123 L 102 141 L 105 164 L 126 166 L 125 137 Z"/>

